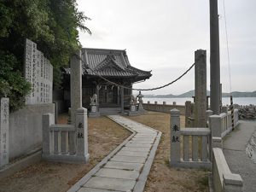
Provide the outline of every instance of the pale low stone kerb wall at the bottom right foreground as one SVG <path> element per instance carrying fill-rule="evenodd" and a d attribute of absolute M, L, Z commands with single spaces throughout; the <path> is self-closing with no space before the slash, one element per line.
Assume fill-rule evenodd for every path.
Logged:
<path fill-rule="evenodd" d="M 218 192 L 241 192 L 242 179 L 239 174 L 230 172 L 221 148 L 213 148 L 212 158 L 213 187 Z"/>

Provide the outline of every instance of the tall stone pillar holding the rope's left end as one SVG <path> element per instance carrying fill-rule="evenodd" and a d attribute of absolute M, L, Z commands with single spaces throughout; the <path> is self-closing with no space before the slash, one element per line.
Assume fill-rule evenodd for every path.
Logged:
<path fill-rule="evenodd" d="M 81 50 L 71 57 L 70 60 L 70 102 L 71 102 L 71 124 L 76 122 L 75 113 L 82 108 L 82 65 Z"/>

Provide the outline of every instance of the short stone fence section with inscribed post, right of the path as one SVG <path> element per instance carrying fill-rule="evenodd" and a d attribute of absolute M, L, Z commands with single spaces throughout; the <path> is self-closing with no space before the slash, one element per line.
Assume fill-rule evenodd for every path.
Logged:
<path fill-rule="evenodd" d="M 212 169 L 212 140 L 209 128 L 180 129 L 180 112 L 171 110 L 170 165 Z M 192 145 L 190 144 L 192 142 Z M 183 148 L 181 148 L 183 147 Z M 182 150 L 183 153 L 180 153 Z"/>

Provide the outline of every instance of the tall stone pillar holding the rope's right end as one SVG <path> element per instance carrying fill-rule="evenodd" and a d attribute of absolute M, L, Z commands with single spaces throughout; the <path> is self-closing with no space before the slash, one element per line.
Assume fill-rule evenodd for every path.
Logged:
<path fill-rule="evenodd" d="M 207 51 L 195 51 L 195 127 L 207 125 Z"/>

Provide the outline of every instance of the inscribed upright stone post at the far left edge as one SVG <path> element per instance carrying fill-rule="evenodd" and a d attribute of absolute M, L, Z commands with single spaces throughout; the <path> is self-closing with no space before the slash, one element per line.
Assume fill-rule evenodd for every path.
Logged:
<path fill-rule="evenodd" d="M 0 167 L 9 164 L 9 98 L 0 102 Z"/>

